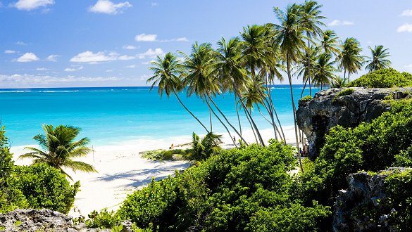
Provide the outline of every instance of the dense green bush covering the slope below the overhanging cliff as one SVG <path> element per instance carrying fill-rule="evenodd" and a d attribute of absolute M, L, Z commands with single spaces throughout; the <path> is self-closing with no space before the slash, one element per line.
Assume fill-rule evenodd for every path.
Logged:
<path fill-rule="evenodd" d="M 391 107 L 370 124 L 330 130 L 313 168 L 301 176 L 306 202 L 332 205 L 337 191 L 347 188 L 346 177 L 359 170 L 377 172 L 397 162 L 412 164 L 412 103 L 392 101 Z"/>

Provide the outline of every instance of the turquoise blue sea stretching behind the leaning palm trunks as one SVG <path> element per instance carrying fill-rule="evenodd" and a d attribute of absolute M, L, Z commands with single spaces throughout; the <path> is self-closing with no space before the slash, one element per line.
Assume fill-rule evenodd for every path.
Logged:
<path fill-rule="evenodd" d="M 300 97 L 303 85 L 294 85 L 294 97 Z M 313 89 L 313 94 L 319 89 Z M 308 95 L 308 89 L 304 96 Z M 282 126 L 293 125 L 288 85 L 271 87 L 271 94 Z M 194 115 L 208 127 L 209 112 L 201 99 L 180 93 Z M 232 124 L 237 125 L 235 99 L 231 94 L 216 97 L 216 103 Z M 149 87 L 96 87 L 59 89 L 0 89 L 0 119 L 12 146 L 35 144 L 32 137 L 42 134 L 42 124 L 80 127 L 94 146 L 118 145 L 139 138 L 173 138 L 204 129 L 177 101 L 175 96 L 160 98 Z M 265 111 L 262 109 L 262 112 Z M 239 111 L 247 127 L 244 112 Z M 258 110 L 253 112 L 259 129 L 271 128 Z M 225 132 L 213 118 L 213 131 Z"/>

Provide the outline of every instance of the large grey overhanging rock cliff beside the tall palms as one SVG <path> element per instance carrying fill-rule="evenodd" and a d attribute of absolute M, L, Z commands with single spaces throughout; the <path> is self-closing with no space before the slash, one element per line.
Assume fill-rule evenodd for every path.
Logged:
<path fill-rule="evenodd" d="M 394 99 L 411 97 L 412 88 L 370 89 L 351 88 L 347 95 L 339 96 L 344 89 L 327 89 L 318 92 L 309 101 L 299 101 L 296 120 L 308 138 L 309 158 L 314 160 L 323 146 L 324 137 L 336 125 L 356 127 L 361 122 L 370 122 L 389 110 L 382 103 L 386 96 Z M 387 97 L 387 98 L 389 98 Z"/>

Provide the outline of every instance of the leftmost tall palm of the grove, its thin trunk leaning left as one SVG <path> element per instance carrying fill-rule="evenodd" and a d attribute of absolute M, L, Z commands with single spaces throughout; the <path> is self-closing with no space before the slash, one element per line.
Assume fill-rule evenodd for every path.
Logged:
<path fill-rule="evenodd" d="M 152 77 L 147 79 L 147 82 L 152 82 L 150 90 L 154 89 L 155 86 L 158 86 L 158 95 L 160 97 L 163 96 L 163 92 L 166 93 L 166 96 L 170 96 L 170 94 L 174 94 L 179 101 L 180 105 L 189 112 L 194 119 L 201 124 L 201 126 L 207 131 L 208 129 L 204 126 L 200 120 L 194 116 L 194 114 L 186 107 L 185 104 L 182 103 L 179 96 L 176 94 L 176 91 L 180 91 L 181 88 L 184 86 L 182 85 L 181 76 L 184 72 L 182 64 L 179 62 L 177 57 L 173 55 L 173 53 L 166 53 L 164 58 L 160 56 L 157 57 L 156 61 L 151 62 L 151 65 L 154 67 L 149 67 L 150 70 L 154 72 Z"/>

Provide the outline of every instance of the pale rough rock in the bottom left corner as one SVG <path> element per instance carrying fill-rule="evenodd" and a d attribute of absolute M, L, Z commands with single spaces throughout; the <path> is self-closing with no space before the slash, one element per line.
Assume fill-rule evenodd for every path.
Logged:
<path fill-rule="evenodd" d="M 132 231 L 132 222 L 123 221 L 121 232 Z M 87 228 L 84 223 L 73 225 L 72 217 L 53 210 L 14 210 L 0 214 L 0 231 L 111 231 Z"/>

